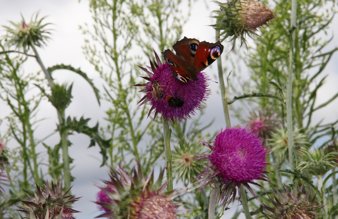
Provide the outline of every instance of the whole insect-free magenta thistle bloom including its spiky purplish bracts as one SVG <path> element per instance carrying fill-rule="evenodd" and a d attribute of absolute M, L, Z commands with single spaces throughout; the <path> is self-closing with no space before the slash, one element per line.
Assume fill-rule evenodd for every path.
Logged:
<path fill-rule="evenodd" d="M 260 186 L 254 180 L 268 181 L 264 173 L 268 149 L 262 145 L 263 139 L 258 137 L 258 133 L 249 131 L 248 127 L 227 127 L 220 130 L 214 146 L 202 142 L 208 146 L 211 153 L 200 155 L 200 158 L 207 158 L 207 169 L 203 170 L 198 176 L 203 176 L 200 180 L 204 187 L 210 184 L 220 189 L 219 199 L 223 204 L 229 198 L 235 200 L 237 189 L 241 194 L 241 186 L 245 186 L 254 196 L 254 191 L 249 184 Z M 217 185 L 218 186 L 215 186 Z M 241 197 L 239 196 L 239 199 Z"/>

